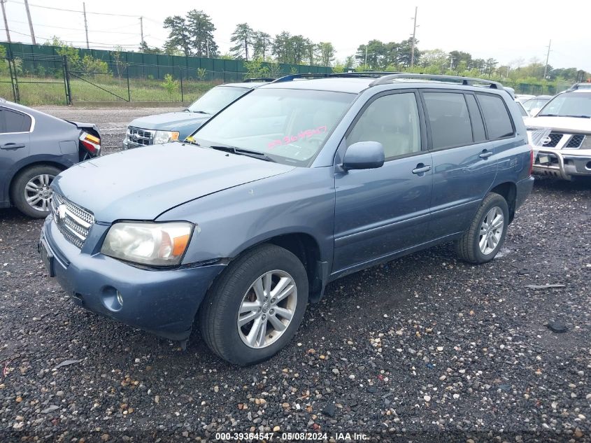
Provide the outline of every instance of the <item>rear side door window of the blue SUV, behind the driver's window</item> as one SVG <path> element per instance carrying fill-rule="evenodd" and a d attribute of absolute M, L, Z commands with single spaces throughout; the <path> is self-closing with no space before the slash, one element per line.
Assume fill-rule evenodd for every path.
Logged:
<path fill-rule="evenodd" d="M 473 143 L 468 105 L 460 92 L 424 92 L 432 149 Z"/>

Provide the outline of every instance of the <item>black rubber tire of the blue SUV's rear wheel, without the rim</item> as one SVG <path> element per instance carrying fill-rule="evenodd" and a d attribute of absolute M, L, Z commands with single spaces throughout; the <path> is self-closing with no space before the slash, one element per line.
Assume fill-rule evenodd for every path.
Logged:
<path fill-rule="evenodd" d="M 495 246 L 490 253 L 485 254 L 483 251 L 480 251 L 480 246 L 478 244 L 480 241 L 480 226 L 482 225 L 487 213 L 495 206 L 503 213 L 503 230 L 497 246 Z M 469 228 L 464 232 L 464 234 L 462 234 L 460 239 L 455 241 L 455 252 L 457 253 L 457 256 L 469 263 L 481 264 L 490 262 L 490 260 L 492 260 L 494 256 L 497 255 L 501 249 L 501 246 L 503 246 L 503 242 L 505 241 L 505 236 L 507 234 L 508 221 L 509 209 L 506 200 L 502 195 L 490 192 L 480 204 L 480 207 L 478 208 L 478 211 L 476 211 L 476 215 L 470 223 Z"/>

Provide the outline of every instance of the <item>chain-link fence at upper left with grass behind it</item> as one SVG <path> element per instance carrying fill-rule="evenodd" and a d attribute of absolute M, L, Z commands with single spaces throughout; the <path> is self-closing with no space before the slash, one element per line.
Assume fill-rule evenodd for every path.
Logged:
<path fill-rule="evenodd" d="M 185 66 L 104 62 L 66 55 L 12 54 L 0 58 L 0 97 L 26 105 L 106 101 L 190 102 L 215 85 L 249 73 Z M 285 75 L 275 73 L 274 77 Z M 266 74 L 269 76 L 269 74 Z"/>

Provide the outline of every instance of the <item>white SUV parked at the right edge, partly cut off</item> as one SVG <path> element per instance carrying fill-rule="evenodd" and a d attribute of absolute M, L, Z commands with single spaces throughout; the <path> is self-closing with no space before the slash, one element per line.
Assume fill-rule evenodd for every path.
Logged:
<path fill-rule="evenodd" d="M 557 94 L 525 118 L 536 158 L 534 172 L 563 180 L 591 176 L 591 89 Z"/>

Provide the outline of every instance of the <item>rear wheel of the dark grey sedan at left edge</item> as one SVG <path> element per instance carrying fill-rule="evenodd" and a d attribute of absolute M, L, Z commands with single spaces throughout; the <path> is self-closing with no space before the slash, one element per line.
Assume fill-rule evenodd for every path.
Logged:
<path fill-rule="evenodd" d="M 10 198 L 24 215 L 32 218 L 45 218 L 51 211 L 51 190 L 49 185 L 59 174 L 50 164 L 38 164 L 21 171 L 13 182 Z"/>

